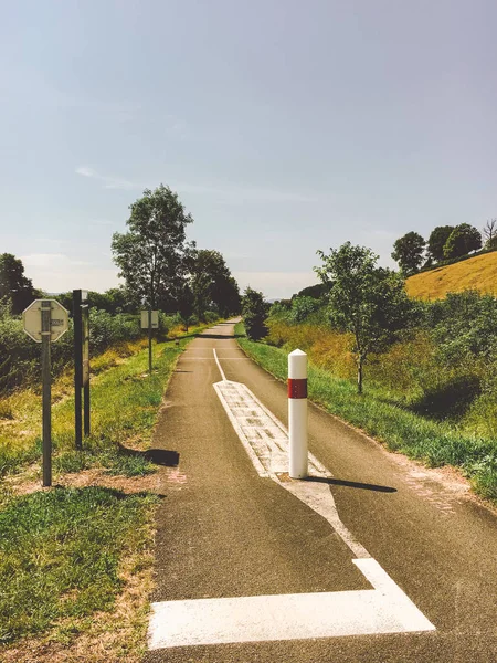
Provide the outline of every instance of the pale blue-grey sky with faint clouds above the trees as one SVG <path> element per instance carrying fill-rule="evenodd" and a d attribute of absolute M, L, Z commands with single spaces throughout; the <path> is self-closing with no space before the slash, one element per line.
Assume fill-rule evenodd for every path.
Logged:
<path fill-rule="evenodd" d="M 497 217 L 495 0 L 0 0 L 0 253 L 117 285 L 160 182 L 241 287 L 310 285 L 347 240 Z"/>

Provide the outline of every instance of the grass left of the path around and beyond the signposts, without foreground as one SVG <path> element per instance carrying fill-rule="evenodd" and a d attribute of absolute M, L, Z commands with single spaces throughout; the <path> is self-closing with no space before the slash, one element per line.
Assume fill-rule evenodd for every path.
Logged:
<path fill-rule="evenodd" d="M 123 454 L 119 444 L 147 446 L 167 382 L 194 332 L 179 339 L 178 346 L 172 340 L 154 345 L 151 376 L 148 376 L 148 348 L 145 348 L 92 378 L 92 434 L 83 440 L 83 452 L 75 451 L 72 376 L 68 382 L 67 377 L 54 382 L 55 394 L 57 389 L 61 392 L 60 402 L 52 406 L 55 476 L 95 466 L 127 476 L 154 471 L 154 465 L 142 457 Z M 105 364 L 105 354 L 102 362 Z M 4 402 L 12 414 L 7 425 L 0 428 L 0 476 L 21 472 L 29 464 L 40 465 L 42 455 L 40 394 L 25 390 Z"/>

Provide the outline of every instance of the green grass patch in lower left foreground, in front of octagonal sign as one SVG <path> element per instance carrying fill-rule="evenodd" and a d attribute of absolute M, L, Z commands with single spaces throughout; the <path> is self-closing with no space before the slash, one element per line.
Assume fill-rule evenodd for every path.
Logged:
<path fill-rule="evenodd" d="M 0 512 L 0 643 L 110 610 L 119 561 L 146 545 L 156 501 L 102 487 L 10 501 Z"/>

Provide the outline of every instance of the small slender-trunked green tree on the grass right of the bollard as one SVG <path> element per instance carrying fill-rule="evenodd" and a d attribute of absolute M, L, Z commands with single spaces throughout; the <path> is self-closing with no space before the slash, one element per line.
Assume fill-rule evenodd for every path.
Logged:
<path fill-rule="evenodd" d="M 399 338 L 411 320 L 412 304 L 404 280 L 377 267 L 378 255 L 347 242 L 329 255 L 318 251 L 324 266 L 315 271 L 329 290 L 329 317 L 340 332 L 353 335 L 357 389 L 362 393 L 363 365 L 370 352 L 381 352 Z"/>

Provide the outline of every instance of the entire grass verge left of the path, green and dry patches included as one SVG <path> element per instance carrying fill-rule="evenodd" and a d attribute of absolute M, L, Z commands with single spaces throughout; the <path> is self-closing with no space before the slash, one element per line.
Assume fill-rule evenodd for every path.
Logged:
<path fill-rule="evenodd" d="M 178 345 L 155 345 L 150 376 L 146 344 L 99 358 L 82 452 L 74 450 L 72 377 L 54 381 L 53 488 L 40 490 L 40 394 L 0 401 L 8 413 L 0 435 L 1 661 L 141 660 L 159 497 L 142 490 L 155 465 L 123 449 L 149 446 L 176 360 L 198 330 Z M 70 477 L 78 487 L 61 485 Z"/>

